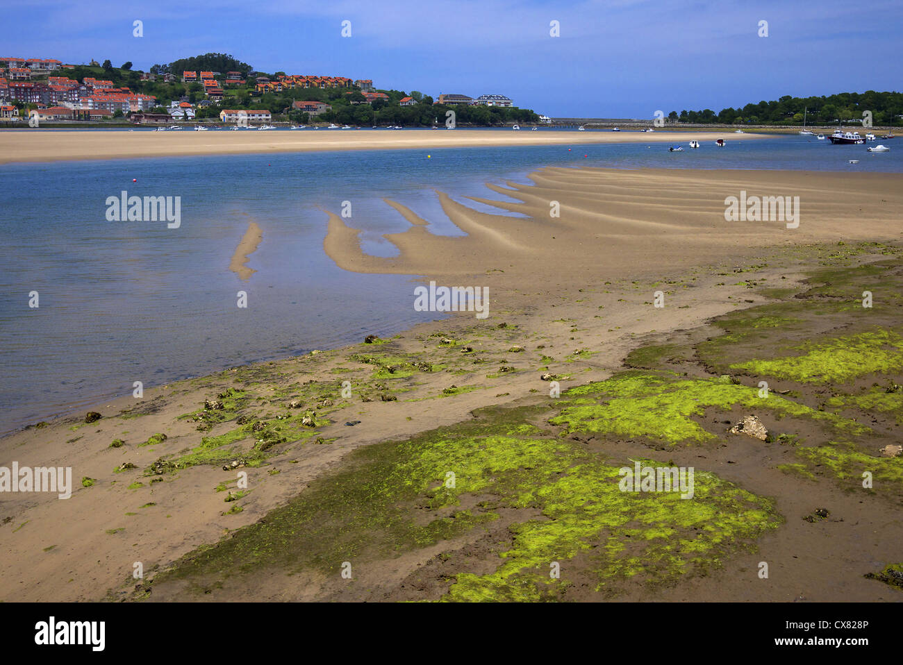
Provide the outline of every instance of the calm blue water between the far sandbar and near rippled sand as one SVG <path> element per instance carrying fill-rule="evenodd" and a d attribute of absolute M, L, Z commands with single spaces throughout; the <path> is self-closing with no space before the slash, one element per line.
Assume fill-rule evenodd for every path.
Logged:
<path fill-rule="evenodd" d="M 134 381 L 146 388 L 435 318 L 414 312 L 411 278 L 344 272 L 323 254 L 322 208 L 339 212 L 345 200 L 350 225 L 365 229 L 365 250 L 391 255 L 394 246 L 380 236 L 408 225 L 383 197 L 431 221 L 434 233 L 455 234 L 433 189 L 498 212 L 462 197 L 498 199 L 484 182 L 526 182 L 545 165 L 903 171 L 896 139 L 884 142 L 890 152 L 870 154 L 813 138 L 725 135 L 726 148 L 707 142 L 679 153 L 647 147 L 637 134 L 639 143 L 575 143 L 570 152 L 461 148 L 0 166 L 0 431 L 130 394 Z M 182 226 L 108 222 L 106 199 L 123 189 L 181 197 Z M 264 240 L 248 262 L 257 272 L 241 282 L 228 262 L 251 220 Z M 239 290 L 247 291 L 247 309 L 236 306 Z M 40 308 L 29 308 L 30 291 L 39 292 Z"/>

